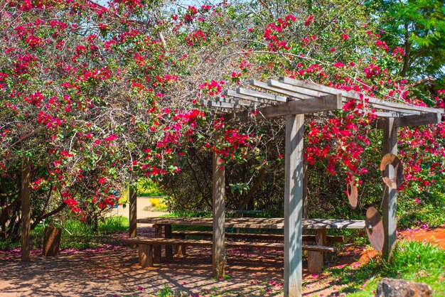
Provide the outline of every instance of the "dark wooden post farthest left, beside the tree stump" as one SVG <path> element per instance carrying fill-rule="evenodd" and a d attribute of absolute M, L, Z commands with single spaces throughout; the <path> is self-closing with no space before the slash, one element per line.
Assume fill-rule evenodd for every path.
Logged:
<path fill-rule="evenodd" d="M 31 252 L 31 167 L 23 163 L 21 169 L 21 261 L 30 261 Z"/>

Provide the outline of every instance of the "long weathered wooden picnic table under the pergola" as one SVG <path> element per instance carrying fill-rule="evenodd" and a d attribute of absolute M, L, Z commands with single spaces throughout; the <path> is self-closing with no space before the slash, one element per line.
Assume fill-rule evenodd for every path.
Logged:
<path fill-rule="evenodd" d="M 166 239 L 166 257 L 173 257 L 173 246 L 168 244 L 168 240 L 172 238 L 172 225 L 179 226 L 202 226 L 212 227 L 213 218 L 211 217 L 151 217 L 137 220 L 138 223 L 152 224 L 155 228 L 155 237 Z M 284 218 L 258 218 L 258 217 L 231 217 L 225 218 L 224 227 L 232 228 L 249 228 L 249 229 L 284 229 Z M 310 249 L 308 252 L 308 266 L 311 273 L 321 270 L 323 266 L 323 247 L 326 247 L 326 229 L 364 229 L 364 220 L 338 220 L 338 219 L 302 219 L 303 229 L 315 230 L 316 248 Z M 163 234 L 164 233 L 164 234 Z M 236 234 L 235 234 L 236 235 Z M 253 235 L 253 234 L 251 234 Z M 276 234 L 277 236 L 282 236 Z M 239 236 L 241 237 L 241 236 Z M 272 239 L 269 238 L 269 239 Z M 191 244 L 190 240 L 183 239 L 185 244 Z M 272 243 L 270 246 L 274 246 Z M 264 244 L 263 247 L 267 247 Z M 275 246 L 274 246 L 275 247 Z M 161 247 L 154 247 L 154 257 L 161 257 Z"/>

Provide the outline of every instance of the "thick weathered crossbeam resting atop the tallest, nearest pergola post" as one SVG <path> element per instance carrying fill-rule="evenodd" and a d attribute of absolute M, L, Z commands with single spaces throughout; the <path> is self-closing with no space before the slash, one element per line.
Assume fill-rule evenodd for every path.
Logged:
<path fill-rule="evenodd" d="M 282 117 L 289 114 L 313 114 L 341 109 L 341 95 L 326 95 L 320 98 L 292 100 L 282 104 L 257 109 L 257 119 Z M 247 114 L 244 114 L 247 117 Z"/>

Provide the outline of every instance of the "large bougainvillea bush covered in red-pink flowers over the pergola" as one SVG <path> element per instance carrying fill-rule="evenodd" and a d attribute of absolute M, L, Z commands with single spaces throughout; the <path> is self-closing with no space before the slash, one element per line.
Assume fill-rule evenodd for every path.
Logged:
<path fill-rule="evenodd" d="M 173 204 L 206 207 L 212 151 L 231 173 L 227 205 L 279 201 L 283 121 L 238 122 L 200 104 L 251 78 L 290 76 L 426 104 L 397 74 L 404 50 L 380 39 L 365 7 L 346 10 L 341 0 L 173 8 L 144 0 L 9 0 L 0 11 L 0 225 L 8 223 L 11 234 L 26 164 L 33 225 L 65 209 L 97 222 L 140 176 L 164 183 Z M 443 105 L 434 100 L 427 104 Z M 381 133 L 373 132 L 375 114 L 365 103 L 306 119 L 309 166 L 337 180 L 336 197 L 344 199 L 338 184 L 377 176 Z M 404 187 L 427 190 L 443 168 L 443 125 L 401 136 Z M 334 199 L 313 188 L 313 201 Z M 372 183 L 365 197 L 379 200 L 379 190 Z M 257 201 L 256 193 L 263 193 Z"/>

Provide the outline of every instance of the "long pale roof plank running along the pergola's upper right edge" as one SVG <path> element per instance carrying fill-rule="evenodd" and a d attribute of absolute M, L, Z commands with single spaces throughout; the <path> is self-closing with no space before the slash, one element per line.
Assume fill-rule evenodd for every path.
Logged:
<path fill-rule="evenodd" d="M 316 90 L 319 92 L 323 92 L 326 94 L 337 94 L 338 92 L 341 92 L 341 95 L 343 95 L 343 98 L 345 101 L 348 101 L 348 98 L 358 99 L 360 100 L 360 94 L 356 92 L 347 92 L 344 90 L 338 90 L 333 87 L 326 87 L 324 85 L 317 85 L 313 82 L 307 82 L 303 80 L 294 80 L 289 77 L 280 77 L 279 82 L 284 82 L 289 85 L 294 85 L 298 87 L 305 87 L 310 90 Z M 397 102 L 389 102 L 384 101 L 382 99 L 378 99 L 375 97 L 365 96 L 365 98 L 369 99 L 369 103 L 375 107 L 376 109 L 382 109 L 385 111 L 392 111 L 392 112 L 403 112 L 407 114 L 422 114 L 424 112 L 432 112 L 432 113 L 444 113 L 443 109 L 435 109 L 431 107 L 419 107 L 415 105 L 408 105 L 408 104 L 402 104 Z"/>

